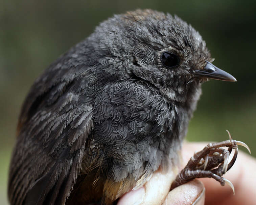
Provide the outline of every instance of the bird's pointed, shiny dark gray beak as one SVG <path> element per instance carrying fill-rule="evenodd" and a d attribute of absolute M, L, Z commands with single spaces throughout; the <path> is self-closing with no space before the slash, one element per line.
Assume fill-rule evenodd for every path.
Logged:
<path fill-rule="evenodd" d="M 225 72 L 222 69 L 217 68 L 212 63 L 206 61 L 206 65 L 202 70 L 194 70 L 194 76 L 196 78 L 211 78 L 221 81 L 233 81 L 236 79 L 231 76 L 229 73 Z"/>

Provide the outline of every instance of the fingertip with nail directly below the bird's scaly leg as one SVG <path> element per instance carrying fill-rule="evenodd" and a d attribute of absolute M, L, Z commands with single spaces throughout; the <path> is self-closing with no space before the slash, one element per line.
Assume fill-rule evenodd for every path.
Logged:
<path fill-rule="evenodd" d="M 193 180 L 174 188 L 167 195 L 163 205 L 203 205 L 205 202 L 205 188 L 201 181 Z"/>

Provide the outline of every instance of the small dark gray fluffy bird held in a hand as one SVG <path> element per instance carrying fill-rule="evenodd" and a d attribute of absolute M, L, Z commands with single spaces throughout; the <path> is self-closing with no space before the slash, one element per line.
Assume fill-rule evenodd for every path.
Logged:
<path fill-rule="evenodd" d="M 201 84 L 236 81 L 212 61 L 200 34 L 177 16 L 136 10 L 102 22 L 32 85 L 10 164 L 10 203 L 111 205 L 160 166 L 174 167 Z M 201 175 L 183 171 L 173 187 L 213 173 L 223 185 L 232 165 L 211 154 L 236 142 L 200 152 L 185 171 Z M 221 164 L 215 172 L 213 164 Z"/>

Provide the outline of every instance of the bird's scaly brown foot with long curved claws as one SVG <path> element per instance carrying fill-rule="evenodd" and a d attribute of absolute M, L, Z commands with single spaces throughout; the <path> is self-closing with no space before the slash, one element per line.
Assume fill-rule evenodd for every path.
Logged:
<path fill-rule="evenodd" d="M 238 145 L 246 147 L 250 153 L 251 151 L 245 143 L 233 140 L 228 130 L 227 132 L 229 140 L 209 143 L 204 149 L 194 153 L 186 167 L 172 182 L 171 189 L 195 178 L 209 177 L 218 181 L 222 186 L 225 184 L 230 185 L 235 194 L 233 184 L 222 175 L 234 165 L 238 153 Z M 228 147 L 228 149 L 226 150 L 222 147 Z M 228 163 L 229 155 L 233 149 L 235 150 L 234 156 Z"/>

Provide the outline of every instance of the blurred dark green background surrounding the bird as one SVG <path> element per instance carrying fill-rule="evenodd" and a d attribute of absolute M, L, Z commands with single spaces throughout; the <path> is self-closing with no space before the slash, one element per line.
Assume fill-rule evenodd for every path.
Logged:
<path fill-rule="evenodd" d="M 93 32 L 99 22 L 136 8 L 177 14 L 207 42 L 214 64 L 236 83 L 211 80 L 191 120 L 187 139 L 247 143 L 256 156 L 255 1 L 0 1 L 0 204 L 17 118 L 36 77 L 59 55 Z"/>

